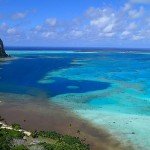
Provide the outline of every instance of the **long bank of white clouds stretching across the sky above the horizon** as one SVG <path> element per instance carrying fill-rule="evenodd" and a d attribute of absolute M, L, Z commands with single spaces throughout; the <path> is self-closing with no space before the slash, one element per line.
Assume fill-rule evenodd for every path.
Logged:
<path fill-rule="evenodd" d="M 16 13 L 13 19 L 23 19 L 27 13 Z M 14 21 L 15 22 L 15 21 Z M 108 39 L 140 41 L 150 39 L 150 19 L 147 10 L 141 5 L 125 3 L 118 10 L 114 8 L 91 7 L 78 18 L 62 21 L 57 18 L 45 18 L 32 28 L 23 30 L 14 23 L 0 24 L 0 33 L 6 37 L 24 37 L 27 40 L 40 41 L 86 41 L 100 42 Z M 70 43 L 70 42 L 67 42 Z"/>

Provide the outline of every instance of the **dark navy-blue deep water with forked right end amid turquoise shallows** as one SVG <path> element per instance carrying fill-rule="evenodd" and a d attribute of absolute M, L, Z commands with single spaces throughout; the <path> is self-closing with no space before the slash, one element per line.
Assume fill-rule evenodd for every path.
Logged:
<path fill-rule="evenodd" d="M 47 55 L 48 56 L 48 55 Z M 69 54 L 50 54 L 54 58 L 45 57 L 45 55 L 24 55 L 19 59 L 10 61 L 10 64 L 0 64 L 0 92 L 24 93 L 36 95 L 43 91 L 51 96 L 66 93 L 84 93 L 95 90 L 103 90 L 110 86 L 109 83 L 90 80 L 69 80 L 63 77 L 51 78 L 54 83 L 41 84 L 41 80 L 48 72 L 56 71 L 62 68 L 69 68 L 70 62 L 76 56 Z M 61 56 L 55 58 L 55 56 Z M 79 65 L 78 65 L 79 66 Z M 69 88 L 75 87 L 75 88 Z"/>

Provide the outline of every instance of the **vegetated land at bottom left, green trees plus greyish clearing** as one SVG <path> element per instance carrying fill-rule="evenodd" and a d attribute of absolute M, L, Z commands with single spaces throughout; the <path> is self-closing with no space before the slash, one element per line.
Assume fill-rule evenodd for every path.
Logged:
<path fill-rule="evenodd" d="M 25 134 L 18 131 L 21 126 L 13 124 L 12 128 L 12 130 L 0 128 L 0 150 L 90 150 L 89 145 L 79 137 L 62 135 L 55 131 L 35 131 L 30 137 L 23 140 Z M 39 139 L 46 140 L 39 141 Z M 38 142 L 31 142 L 31 140 Z"/>

